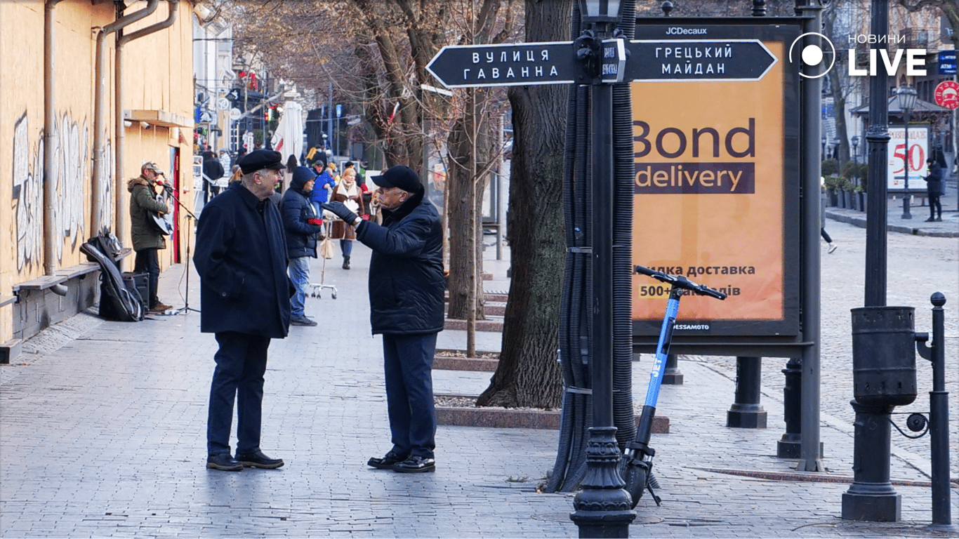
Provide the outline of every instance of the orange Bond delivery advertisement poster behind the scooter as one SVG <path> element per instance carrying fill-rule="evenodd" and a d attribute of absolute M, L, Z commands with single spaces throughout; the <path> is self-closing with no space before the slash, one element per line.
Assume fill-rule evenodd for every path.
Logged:
<path fill-rule="evenodd" d="M 796 213 L 788 205 L 798 205 L 789 186 L 799 171 L 788 170 L 798 167 L 787 154 L 798 152 L 798 130 L 788 132 L 798 126 L 786 119 L 788 43 L 763 44 L 780 61 L 758 81 L 632 84 L 633 261 L 729 294 L 684 296 L 677 335 L 717 327 L 782 335 L 795 326 L 798 263 L 788 241 Z M 634 275 L 633 318 L 649 322 L 637 327 L 658 332 L 668 293 Z"/>

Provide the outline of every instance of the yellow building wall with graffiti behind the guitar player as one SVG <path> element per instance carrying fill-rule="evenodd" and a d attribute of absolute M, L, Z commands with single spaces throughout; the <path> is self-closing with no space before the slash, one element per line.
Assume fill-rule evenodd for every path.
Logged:
<path fill-rule="evenodd" d="M 146 5 L 145 1 L 129 2 L 126 13 Z M 129 34 L 165 20 L 169 6 L 161 0 L 155 12 L 124 32 Z M 192 8 L 190 1 L 179 2 L 172 27 L 127 44 L 123 108 L 164 110 L 192 122 Z M 57 164 L 54 171 L 46 172 L 49 185 L 57 191 L 53 208 L 54 268 L 65 269 L 86 261 L 79 246 L 94 233 L 90 220 L 96 35 L 97 29 L 115 20 L 116 13 L 113 2 L 90 0 L 64 0 L 54 13 L 56 127 L 49 140 L 55 147 Z M 42 0 L 0 1 L 0 303 L 10 300 L 14 286 L 45 273 L 44 15 Z M 139 122 L 133 122 L 125 128 L 124 170 L 119 175 L 114 172 L 115 40 L 115 34 L 105 38 L 105 200 L 111 230 L 116 230 L 117 212 L 124 212 L 126 230 L 120 240 L 124 246 L 131 246 L 127 181 L 139 175 L 142 162 L 156 161 L 177 185 L 192 187 L 192 125 L 143 129 Z M 172 159 L 177 151 L 182 174 L 175 178 Z M 117 189 L 121 193 L 119 204 L 115 199 Z M 180 194 L 192 210 L 192 193 Z M 185 245 L 183 234 L 191 228 L 184 221 L 180 237 L 168 239 L 168 248 L 160 255 L 161 268 L 177 261 L 172 244 Z M 123 269 L 131 269 L 132 257 L 124 264 Z M 12 339 L 16 323 L 12 306 L 0 306 L 0 344 Z"/>

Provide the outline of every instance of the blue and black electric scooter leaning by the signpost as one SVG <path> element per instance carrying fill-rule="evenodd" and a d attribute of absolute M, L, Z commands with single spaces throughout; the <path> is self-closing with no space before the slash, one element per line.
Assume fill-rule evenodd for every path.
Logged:
<path fill-rule="evenodd" d="M 670 275 L 655 269 L 643 268 L 643 266 L 637 266 L 635 272 L 663 281 L 670 288 L 666 316 L 663 317 L 663 327 L 660 329 L 660 339 L 656 346 L 656 363 L 653 363 L 653 370 L 649 373 L 649 388 L 646 389 L 646 401 L 643 405 L 643 414 L 640 416 L 640 425 L 636 430 L 636 439 L 626 444 L 626 464 L 622 479 L 626 482 L 625 490 L 633 497 L 632 507 L 639 503 L 643 492 L 647 489 L 657 505 L 662 501 L 654 490 L 659 488 L 659 483 L 652 475 L 653 457 L 656 451 L 649 447 L 649 435 L 652 433 L 656 401 L 659 399 L 659 389 L 663 385 L 663 374 L 666 372 L 665 365 L 669 355 L 669 343 L 672 341 L 672 329 L 676 325 L 676 315 L 679 313 L 679 299 L 685 293 L 698 293 L 716 299 L 726 299 L 725 293 L 694 283 L 682 275 Z"/>

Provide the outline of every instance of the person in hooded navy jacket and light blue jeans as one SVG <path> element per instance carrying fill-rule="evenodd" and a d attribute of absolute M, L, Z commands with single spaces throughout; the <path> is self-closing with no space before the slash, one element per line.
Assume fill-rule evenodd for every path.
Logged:
<path fill-rule="evenodd" d="M 287 256 L 290 280 L 296 293 L 291 301 L 290 323 L 315 326 L 316 320 L 306 316 L 306 289 L 310 284 L 310 259 L 316 258 L 316 236 L 323 232 L 323 220 L 308 197 L 315 189 L 316 174 L 306 167 L 295 167 L 290 187 L 283 194 L 283 227 L 287 235 Z M 320 236 L 322 237 L 322 236 Z"/>

